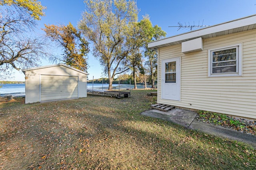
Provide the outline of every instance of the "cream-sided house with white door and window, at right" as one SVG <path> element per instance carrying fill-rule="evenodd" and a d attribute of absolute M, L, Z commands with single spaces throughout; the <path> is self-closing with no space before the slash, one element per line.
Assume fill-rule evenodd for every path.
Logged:
<path fill-rule="evenodd" d="M 158 103 L 256 119 L 256 15 L 148 47 L 158 51 Z"/>

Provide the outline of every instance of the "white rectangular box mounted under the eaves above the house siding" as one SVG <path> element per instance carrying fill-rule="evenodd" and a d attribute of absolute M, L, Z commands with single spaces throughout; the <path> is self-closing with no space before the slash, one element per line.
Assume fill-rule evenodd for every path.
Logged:
<path fill-rule="evenodd" d="M 203 50 L 203 40 L 201 37 L 181 43 L 181 52 L 184 54 L 195 52 L 195 51 L 202 51 L 202 50 Z"/>

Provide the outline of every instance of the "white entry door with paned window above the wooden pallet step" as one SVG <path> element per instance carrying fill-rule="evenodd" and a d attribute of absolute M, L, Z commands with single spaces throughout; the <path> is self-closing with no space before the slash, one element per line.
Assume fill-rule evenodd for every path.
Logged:
<path fill-rule="evenodd" d="M 162 99 L 180 100 L 180 57 L 162 61 Z"/>

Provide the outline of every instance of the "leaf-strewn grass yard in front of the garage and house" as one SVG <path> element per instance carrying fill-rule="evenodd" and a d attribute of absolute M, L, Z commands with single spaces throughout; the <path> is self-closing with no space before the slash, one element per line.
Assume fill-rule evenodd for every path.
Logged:
<path fill-rule="evenodd" d="M 0 169 L 255 169 L 256 153 L 228 141 L 140 115 L 153 90 L 129 98 L 88 95 L 48 103 L 0 104 Z"/>

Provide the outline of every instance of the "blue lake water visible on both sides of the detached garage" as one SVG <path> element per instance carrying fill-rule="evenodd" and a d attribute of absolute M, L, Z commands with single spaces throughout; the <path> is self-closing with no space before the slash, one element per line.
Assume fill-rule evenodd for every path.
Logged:
<path fill-rule="evenodd" d="M 25 84 L 0 84 L 0 95 L 12 95 L 12 96 L 25 96 Z M 113 88 L 118 89 L 118 84 L 113 84 Z M 143 85 L 137 85 L 138 88 L 144 88 Z M 92 88 L 92 83 L 87 84 L 87 88 Z M 93 84 L 93 88 L 102 90 L 102 84 Z M 120 89 L 130 88 L 129 84 L 120 84 Z M 134 85 L 131 85 L 131 88 L 134 88 Z M 103 89 L 108 89 L 108 84 L 103 84 Z"/>

